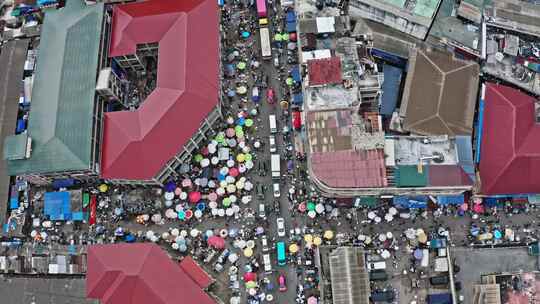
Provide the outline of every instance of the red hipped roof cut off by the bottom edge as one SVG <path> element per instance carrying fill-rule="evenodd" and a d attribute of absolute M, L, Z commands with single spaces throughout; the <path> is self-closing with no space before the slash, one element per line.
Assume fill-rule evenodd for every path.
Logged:
<path fill-rule="evenodd" d="M 216 303 L 151 243 L 90 246 L 86 295 L 101 304 Z"/>

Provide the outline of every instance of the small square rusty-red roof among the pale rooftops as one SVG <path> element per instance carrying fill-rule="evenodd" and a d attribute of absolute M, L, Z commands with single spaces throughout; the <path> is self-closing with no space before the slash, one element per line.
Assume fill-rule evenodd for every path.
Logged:
<path fill-rule="evenodd" d="M 309 85 L 341 83 L 341 59 L 331 57 L 308 61 Z"/>

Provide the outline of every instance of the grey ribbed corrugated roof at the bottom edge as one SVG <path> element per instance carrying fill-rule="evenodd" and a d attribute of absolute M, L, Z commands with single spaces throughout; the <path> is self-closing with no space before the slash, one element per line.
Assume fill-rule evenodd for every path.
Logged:
<path fill-rule="evenodd" d="M 368 304 L 371 293 L 364 251 L 339 247 L 329 256 L 333 304 Z"/>

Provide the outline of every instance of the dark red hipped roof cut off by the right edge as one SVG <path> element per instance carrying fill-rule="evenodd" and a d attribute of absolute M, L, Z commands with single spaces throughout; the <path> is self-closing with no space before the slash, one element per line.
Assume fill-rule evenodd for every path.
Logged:
<path fill-rule="evenodd" d="M 540 193 L 540 125 L 534 98 L 487 84 L 480 158 L 483 194 Z"/>

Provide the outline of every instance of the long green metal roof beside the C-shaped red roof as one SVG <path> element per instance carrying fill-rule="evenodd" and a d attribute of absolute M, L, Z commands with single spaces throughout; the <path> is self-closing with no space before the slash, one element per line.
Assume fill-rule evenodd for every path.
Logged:
<path fill-rule="evenodd" d="M 45 13 L 28 122 L 32 154 L 8 161 L 10 175 L 91 168 L 103 4 L 66 2 Z"/>

